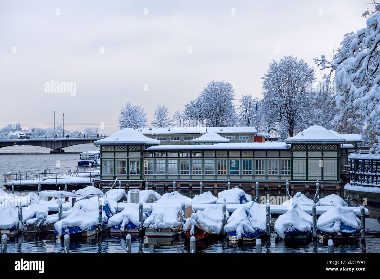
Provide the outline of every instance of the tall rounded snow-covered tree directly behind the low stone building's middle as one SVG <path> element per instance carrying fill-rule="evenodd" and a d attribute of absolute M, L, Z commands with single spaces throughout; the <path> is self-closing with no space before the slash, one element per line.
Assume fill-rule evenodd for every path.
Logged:
<path fill-rule="evenodd" d="M 204 107 L 206 126 L 233 126 L 236 123 L 232 102 L 235 99 L 235 90 L 230 83 L 212 80 L 199 97 Z"/>

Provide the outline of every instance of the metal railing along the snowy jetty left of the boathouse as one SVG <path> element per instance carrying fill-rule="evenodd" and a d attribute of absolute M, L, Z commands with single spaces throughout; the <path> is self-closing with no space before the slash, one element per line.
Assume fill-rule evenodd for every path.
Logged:
<path fill-rule="evenodd" d="M 28 170 L 23 172 L 8 172 L 3 175 L 5 182 L 9 181 L 22 181 L 22 180 L 41 180 L 44 177 L 57 177 L 57 175 L 68 174 L 75 175 L 82 172 L 91 172 L 100 170 L 98 167 L 92 167 L 90 169 L 89 165 L 87 166 L 75 166 L 75 167 L 56 167 L 56 168 L 47 168 L 43 170 Z M 77 175 L 78 176 L 78 175 Z"/>

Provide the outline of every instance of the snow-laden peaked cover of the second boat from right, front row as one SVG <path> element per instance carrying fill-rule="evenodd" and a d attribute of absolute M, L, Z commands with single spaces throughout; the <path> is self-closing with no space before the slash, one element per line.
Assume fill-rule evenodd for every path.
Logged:
<path fill-rule="evenodd" d="M 285 239 L 285 233 L 310 232 L 312 225 L 312 216 L 303 211 L 297 203 L 293 203 L 291 209 L 277 218 L 274 230 L 280 238 Z"/>

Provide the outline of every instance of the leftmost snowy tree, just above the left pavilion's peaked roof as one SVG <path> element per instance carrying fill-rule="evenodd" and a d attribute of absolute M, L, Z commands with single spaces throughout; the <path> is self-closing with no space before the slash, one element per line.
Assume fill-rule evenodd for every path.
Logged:
<path fill-rule="evenodd" d="M 120 110 L 118 121 L 121 129 L 144 128 L 148 122 L 144 108 L 141 106 L 133 106 L 131 102 L 128 102 L 128 104 Z"/>

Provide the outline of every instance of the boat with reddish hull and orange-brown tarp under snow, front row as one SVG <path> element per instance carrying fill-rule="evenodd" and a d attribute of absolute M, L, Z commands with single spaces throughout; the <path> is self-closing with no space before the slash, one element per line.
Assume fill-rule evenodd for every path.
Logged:
<path fill-rule="evenodd" d="M 226 219 L 230 218 L 228 211 Z M 194 236 L 196 240 L 201 240 L 210 236 L 218 236 L 223 229 L 223 209 L 221 205 L 210 205 L 204 210 L 198 210 L 184 224 L 185 236 Z"/>

